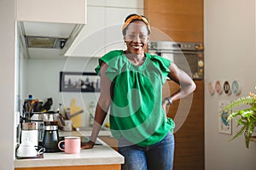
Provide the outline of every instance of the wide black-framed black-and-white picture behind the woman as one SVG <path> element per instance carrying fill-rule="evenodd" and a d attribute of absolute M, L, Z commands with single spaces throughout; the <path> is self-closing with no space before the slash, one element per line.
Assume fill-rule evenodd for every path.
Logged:
<path fill-rule="evenodd" d="M 60 72 L 60 92 L 100 92 L 100 83 L 95 72 Z"/>

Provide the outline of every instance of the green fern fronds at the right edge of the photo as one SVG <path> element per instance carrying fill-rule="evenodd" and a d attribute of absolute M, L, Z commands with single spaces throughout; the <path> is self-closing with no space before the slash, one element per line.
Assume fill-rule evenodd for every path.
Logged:
<path fill-rule="evenodd" d="M 233 111 L 234 108 L 241 105 L 248 105 L 249 107 Z M 236 139 L 243 134 L 248 149 L 250 141 L 253 138 L 253 129 L 256 126 L 256 94 L 249 93 L 246 97 L 231 101 L 229 105 L 224 107 L 224 110 L 231 110 L 228 121 L 236 118 L 237 127 L 241 127 L 230 140 Z"/>

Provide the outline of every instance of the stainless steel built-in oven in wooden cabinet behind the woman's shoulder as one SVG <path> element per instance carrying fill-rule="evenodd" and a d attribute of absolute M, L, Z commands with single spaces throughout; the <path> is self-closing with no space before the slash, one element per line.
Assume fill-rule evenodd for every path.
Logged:
<path fill-rule="evenodd" d="M 148 54 L 171 59 L 195 80 L 204 78 L 204 54 L 200 42 L 151 41 L 148 43 Z"/>

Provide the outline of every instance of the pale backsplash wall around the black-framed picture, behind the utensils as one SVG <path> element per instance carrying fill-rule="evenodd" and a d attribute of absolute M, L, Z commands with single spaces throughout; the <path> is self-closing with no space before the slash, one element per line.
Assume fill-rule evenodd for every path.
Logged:
<path fill-rule="evenodd" d="M 76 105 L 82 107 L 82 126 L 89 126 L 88 109 L 91 101 L 96 103 L 99 93 L 70 93 L 60 92 L 60 71 L 95 72 L 98 64 L 97 58 L 69 57 L 65 59 L 27 59 L 26 67 L 26 94 L 32 94 L 33 98 L 45 102 L 52 98 L 52 110 L 57 109 L 61 103 L 69 107 L 71 99 L 76 99 Z M 105 123 L 108 122 L 108 117 Z"/>

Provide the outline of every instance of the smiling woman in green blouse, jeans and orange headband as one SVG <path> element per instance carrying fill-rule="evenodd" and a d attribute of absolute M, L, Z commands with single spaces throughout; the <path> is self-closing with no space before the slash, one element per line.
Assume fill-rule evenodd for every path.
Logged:
<path fill-rule="evenodd" d="M 131 14 L 125 19 L 123 36 L 127 49 L 114 50 L 99 59 L 101 95 L 90 142 L 92 148 L 110 108 L 110 129 L 125 157 L 122 169 L 172 169 L 174 122 L 166 105 L 195 90 L 192 79 L 174 63 L 144 53 L 150 35 L 148 19 Z M 181 89 L 162 101 L 162 85 L 170 77 Z"/>

